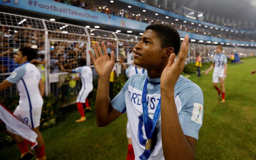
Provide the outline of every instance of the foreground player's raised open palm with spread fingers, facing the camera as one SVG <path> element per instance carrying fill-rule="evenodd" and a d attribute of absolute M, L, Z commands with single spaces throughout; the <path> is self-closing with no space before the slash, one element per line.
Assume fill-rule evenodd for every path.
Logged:
<path fill-rule="evenodd" d="M 91 59 L 93 60 L 95 70 L 97 71 L 99 77 L 110 76 L 110 73 L 115 65 L 114 51 L 111 52 L 111 58 L 109 59 L 109 56 L 107 55 L 107 49 L 106 49 L 104 42 L 101 42 L 101 46 L 102 46 L 104 55 L 102 54 L 102 50 L 101 50 L 101 47 L 99 46 L 98 42 L 95 42 L 95 45 L 92 44 L 91 46 L 94 50 L 96 58 L 92 54 L 91 50 L 89 50 L 89 54 L 90 54 Z"/>

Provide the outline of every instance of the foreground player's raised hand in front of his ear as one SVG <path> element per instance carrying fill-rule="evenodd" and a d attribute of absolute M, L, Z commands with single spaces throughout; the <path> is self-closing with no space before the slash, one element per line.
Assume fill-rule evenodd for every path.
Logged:
<path fill-rule="evenodd" d="M 174 89 L 175 84 L 181 75 L 189 49 L 189 36 L 185 35 L 184 40 L 179 51 L 178 59 L 175 61 L 175 53 L 172 53 L 169 57 L 168 64 L 161 75 L 161 90 Z M 174 62 L 175 61 L 175 62 Z"/>

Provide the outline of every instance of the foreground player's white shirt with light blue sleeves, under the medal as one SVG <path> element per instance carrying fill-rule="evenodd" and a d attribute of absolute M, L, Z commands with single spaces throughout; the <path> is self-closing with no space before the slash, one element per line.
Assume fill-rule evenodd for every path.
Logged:
<path fill-rule="evenodd" d="M 125 83 L 119 94 L 111 101 L 111 105 L 119 112 L 127 112 L 135 159 L 164 159 L 161 139 L 161 114 L 159 115 L 155 127 L 157 133 L 154 135 L 155 137 L 153 136 L 156 140 L 155 144 L 153 144 L 155 147 L 149 155 L 145 154 L 145 143 L 147 138 L 143 123 L 141 100 L 146 78 L 149 79 L 146 96 L 148 112 L 149 118 L 153 120 L 161 93 L 159 84 L 160 78 L 152 79 L 146 74 L 133 75 Z M 198 132 L 203 121 L 202 90 L 194 82 L 181 75 L 174 88 L 174 100 L 183 133 L 198 139 Z"/>

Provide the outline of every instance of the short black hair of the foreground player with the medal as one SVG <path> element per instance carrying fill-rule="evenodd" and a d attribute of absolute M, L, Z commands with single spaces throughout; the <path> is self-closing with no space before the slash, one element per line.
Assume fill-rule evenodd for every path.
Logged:
<path fill-rule="evenodd" d="M 161 47 L 173 47 L 175 55 L 179 53 L 181 48 L 181 39 L 178 31 L 166 24 L 151 24 L 146 27 L 146 30 L 153 30 L 157 33 L 157 37 L 161 41 Z"/>

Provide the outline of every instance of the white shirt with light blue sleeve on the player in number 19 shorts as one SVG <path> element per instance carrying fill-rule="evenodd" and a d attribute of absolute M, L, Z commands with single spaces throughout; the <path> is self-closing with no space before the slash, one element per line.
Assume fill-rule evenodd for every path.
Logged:
<path fill-rule="evenodd" d="M 20 110 L 43 106 L 43 98 L 38 86 L 41 78 L 38 68 L 30 62 L 21 64 L 6 78 L 7 81 L 17 84 Z"/>

